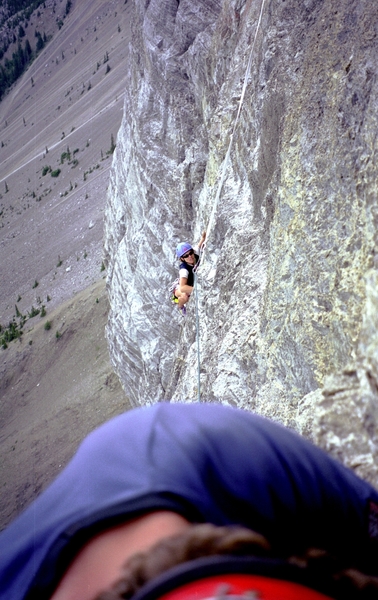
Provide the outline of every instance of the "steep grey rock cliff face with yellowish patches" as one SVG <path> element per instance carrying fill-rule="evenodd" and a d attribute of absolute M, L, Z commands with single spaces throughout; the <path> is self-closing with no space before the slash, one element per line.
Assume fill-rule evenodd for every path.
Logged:
<path fill-rule="evenodd" d="M 177 242 L 210 223 L 201 399 L 280 420 L 378 484 L 378 4 L 132 1 L 105 223 L 127 395 L 197 400 L 195 302 L 182 319 L 167 286 Z"/>

